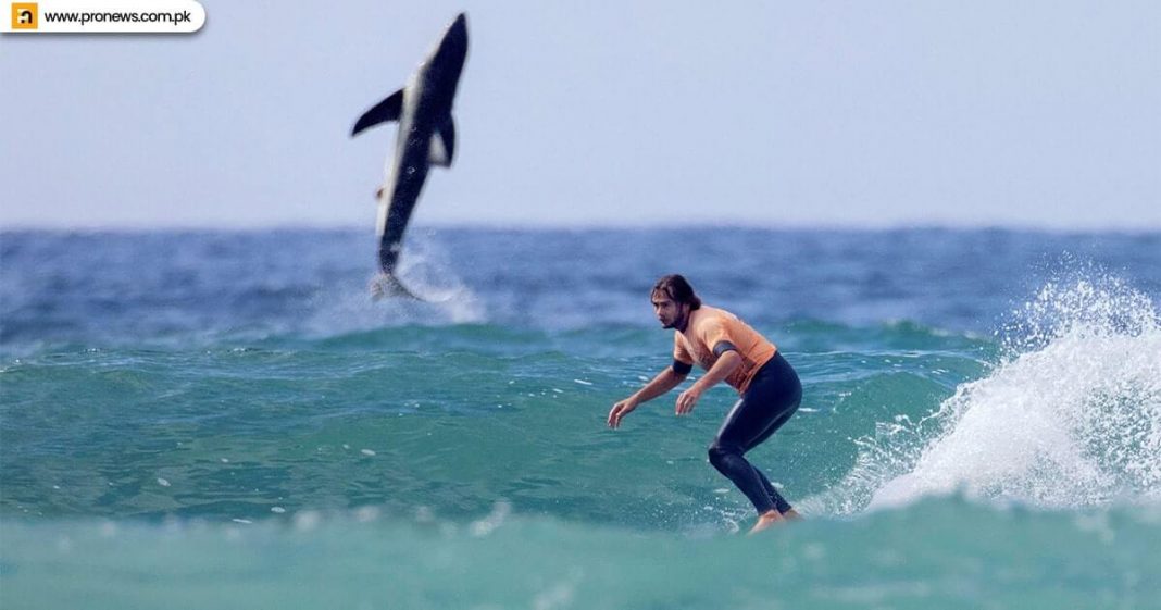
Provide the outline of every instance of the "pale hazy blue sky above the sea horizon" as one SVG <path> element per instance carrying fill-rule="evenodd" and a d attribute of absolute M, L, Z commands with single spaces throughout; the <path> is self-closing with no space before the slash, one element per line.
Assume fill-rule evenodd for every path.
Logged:
<path fill-rule="evenodd" d="M 0 36 L 0 230 L 374 227 L 468 14 L 427 225 L 1161 230 L 1161 2 L 201 0 L 170 36 Z"/>

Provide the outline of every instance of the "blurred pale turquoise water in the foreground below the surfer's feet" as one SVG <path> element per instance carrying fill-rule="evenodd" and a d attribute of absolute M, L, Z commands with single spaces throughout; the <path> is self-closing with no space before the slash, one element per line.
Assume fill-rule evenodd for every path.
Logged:
<path fill-rule="evenodd" d="M 5 605 L 1055 609 L 1155 608 L 1161 596 L 1155 509 L 940 500 L 762 538 L 499 515 L 9 524 L 20 553 L 3 568 Z"/>

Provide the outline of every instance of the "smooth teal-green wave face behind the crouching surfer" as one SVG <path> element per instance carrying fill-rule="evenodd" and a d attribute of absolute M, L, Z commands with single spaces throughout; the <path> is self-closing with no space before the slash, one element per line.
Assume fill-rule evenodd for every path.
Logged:
<path fill-rule="evenodd" d="M 825 349 L 836 333 L 863 349 Z M 895 325 L 773 335 L 808 393 L 756 458 L 778 465 L 771 475 L 795 501 L 850 471 L 851 438 L 978 378 L 989 345 Z M 622 430 L 604 425 L 613 402 L 670 363 L 670 340 L 635 325 L 405 325 L 21 359 L 0 369 L 12 431 L 0 510 L 252 519 L 372 502 L 462 515 L 505 498 L 635 528 L 744 528 L 750 507 L 704 451 L 736 400 L 728 388 L 692 418 L 673 417 L 670 396 Z"/>

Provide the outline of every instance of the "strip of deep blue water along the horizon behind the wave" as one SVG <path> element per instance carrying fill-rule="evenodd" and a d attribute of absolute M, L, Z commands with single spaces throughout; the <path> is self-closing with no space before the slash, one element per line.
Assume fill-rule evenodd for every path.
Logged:
<path fill-rule="evenodd" d="M 409 249 L 404 274 L 454 295 L 447 307 L 365 307 L 366 232 L 6 232 L 0 337 L 19 350 L 461 322 L 643 325 L 642 294 L 672 272 L 755 324 L 908 321 L 983 333 L 1061 275 L 1161 292 L 1159 234 L 419 229 Z"/>

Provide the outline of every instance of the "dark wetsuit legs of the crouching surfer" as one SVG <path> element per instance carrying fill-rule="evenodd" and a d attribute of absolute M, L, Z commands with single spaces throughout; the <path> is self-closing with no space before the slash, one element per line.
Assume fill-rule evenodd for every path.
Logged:
<path fill-rule="evenodd" d="M 770 509 L 786 512 L 791 504 L 743 455 L 781 428 L 801 402 L 802 383 L 798 374 L 781 352 L 774 353 L 730 409 L 709 446 L 709 464 L 734 481 L 759 515 Z"/>

